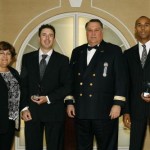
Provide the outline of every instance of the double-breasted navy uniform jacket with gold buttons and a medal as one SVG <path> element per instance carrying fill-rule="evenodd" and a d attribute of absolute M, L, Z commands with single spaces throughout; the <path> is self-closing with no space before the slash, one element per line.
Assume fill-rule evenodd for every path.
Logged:
<path fill-rule="evenodd" d="M 84 44 L 73 50 L 70 65 L 77 118 L 108 119 L 113 105 L 124 105 L 127 79 L 120 47 L 102 41 L 87 66 Z"/>

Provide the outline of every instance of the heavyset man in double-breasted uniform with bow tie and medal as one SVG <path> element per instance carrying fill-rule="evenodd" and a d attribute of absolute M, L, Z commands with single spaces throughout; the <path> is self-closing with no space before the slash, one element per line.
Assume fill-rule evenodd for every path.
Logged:
<path fill-rule="evenodd" d="M 67 113 L 75 117 L 77 150 L 92 150 L 94 135 L 98 149 L 117 150 L 118 117 L 126 100 L 123 54 L 103 40 L 100 20 L 90 20 L 85 28 L 88 43 L 72 52 L 73 91 L 65 98 Z"/>

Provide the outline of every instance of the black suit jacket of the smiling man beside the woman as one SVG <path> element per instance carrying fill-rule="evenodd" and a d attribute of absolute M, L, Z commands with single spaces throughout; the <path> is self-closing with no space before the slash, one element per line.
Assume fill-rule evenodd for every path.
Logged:
<path fill-rule="evenodd" d="M 21 70 L 21 108 L 29 106 L 33 120 L 62 121 L 64 119 L 64 97 L 70 92 L 69 59 L 53 51 L 42 81 L 39 74 L 39 51 L 23 56 Z M 51 104 L 37 105 L 31 96 L 39 93 L 48 96 Z"/>

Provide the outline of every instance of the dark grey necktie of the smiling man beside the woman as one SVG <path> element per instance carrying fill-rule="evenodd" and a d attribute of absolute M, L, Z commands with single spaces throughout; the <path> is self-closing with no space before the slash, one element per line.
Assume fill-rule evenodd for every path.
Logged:
<path fill-rule="evenodd" d="M 40 61 L 40 79 L 43 78 L 44 72 L 45 72 L 45 68 L 46 68 L 46 60 L 45 58 L 47 57 L 46 54 L 42 55 L 42 59 Z"/>

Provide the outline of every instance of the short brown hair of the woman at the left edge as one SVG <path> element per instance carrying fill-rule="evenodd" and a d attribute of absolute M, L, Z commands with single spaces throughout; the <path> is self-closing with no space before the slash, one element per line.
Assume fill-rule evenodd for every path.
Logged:
<path fill-rule="evenodd" d="M 4 51 L 9 50 L 12 57 L 16 55 L 15 48 L 6 41 L 0 41 L 0 50 L 4 50 Z"/>

